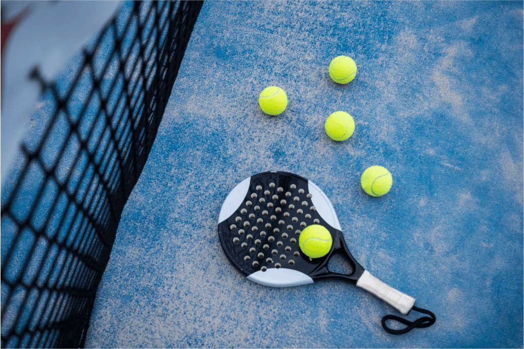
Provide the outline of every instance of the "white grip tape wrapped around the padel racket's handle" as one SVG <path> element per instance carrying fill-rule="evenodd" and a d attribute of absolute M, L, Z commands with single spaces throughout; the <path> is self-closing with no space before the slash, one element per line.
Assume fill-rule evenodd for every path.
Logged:
<path fill-rule="evenodd" d="M 381 282 L 378 278 L 369 274 L 367 270 L 358 278 L 357 286 L 384 300 L 387 304 L 400 311 L 402 315 L 408 315 L 408 312 L 415 304 L 416 299 Z"/>

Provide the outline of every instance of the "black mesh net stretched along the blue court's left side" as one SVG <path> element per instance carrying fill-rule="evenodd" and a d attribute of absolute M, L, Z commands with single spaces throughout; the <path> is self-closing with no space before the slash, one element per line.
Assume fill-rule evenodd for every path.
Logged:
<path fill-rule="evenodd" d="M 69 79 L 32 72 L 40 126 L 2 190 L 2 348 L 83 347 L 122 210 L 201 7 L 126 2 Z"/>

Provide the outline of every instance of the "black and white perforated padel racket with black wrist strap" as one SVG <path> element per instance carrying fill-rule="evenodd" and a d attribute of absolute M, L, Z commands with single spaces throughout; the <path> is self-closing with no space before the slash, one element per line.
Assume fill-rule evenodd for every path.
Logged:
<path fill-rule="evenodd" d="M 333 245 L 328 254 L 310 259 L 299 247 L 303 228 L 320 224 L 330 231 Z M 382 319 L 384 329 L 402 334 L 413 328 L 429 327 L 435 315 L 414 306 L 415 299 L 378 280 L 353 258 L 342 235 L 339 219 L 328 197 L 313 182 L 287 172 L 264 172 L 246 178 L 227 195 L 219 216 L 219 237 L 231 263 L 250 281 L 288 287 L 314 280 L 339 278 L 356 283 L 396 308 L 402 315 L 411 309 L 426 313 L 416 321 L 394 315 Z M 334 253 L 342 253 L 351 266 L 349 274 L 328 269 Z M 388 328 L 386 320 L 408 327 Z"/>

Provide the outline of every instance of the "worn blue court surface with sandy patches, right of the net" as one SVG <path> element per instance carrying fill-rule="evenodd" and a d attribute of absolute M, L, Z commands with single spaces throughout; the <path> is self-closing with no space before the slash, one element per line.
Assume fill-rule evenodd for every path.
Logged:
<path fill-rule="evenodd" d="M 86 347 L 522 348 L 523 7 L 206 2 Z M 340 54 L 358 66 L 346 86 L 328 75 Z M 258 107 L 270 85 L 288 94 L 278 117 Z M 340 143 L 323 130 L 337 110 L 356 123 Z M 394 176 L 380 198 L 359 188 L 372 165 Z M 220 207 L 268 170 L 319 185 L 356 259 L 433 327 L 393 336 L 380 319 L 397 312 L 351 284 L 269 288 L 235 270 Z"/>

